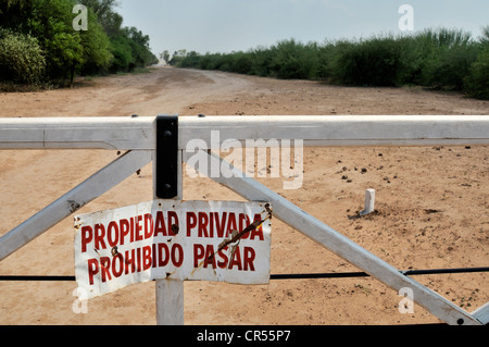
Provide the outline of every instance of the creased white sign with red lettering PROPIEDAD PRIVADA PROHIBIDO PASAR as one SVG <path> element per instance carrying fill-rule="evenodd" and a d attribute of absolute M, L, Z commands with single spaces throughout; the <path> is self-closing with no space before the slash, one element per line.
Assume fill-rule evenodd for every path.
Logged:
<path fill-rule="evenodd" d="M 151 280 L 267 284 L 265 202 L 153 200 L 75 216 L 75 274 L 87 298 Z"/>

